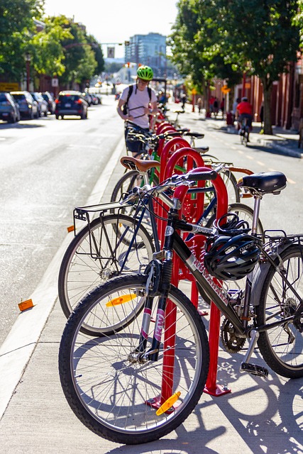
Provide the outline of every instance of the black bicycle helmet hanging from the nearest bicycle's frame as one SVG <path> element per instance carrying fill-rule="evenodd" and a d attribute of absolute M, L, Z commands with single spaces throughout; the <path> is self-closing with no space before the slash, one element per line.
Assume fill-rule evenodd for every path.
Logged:
<path fill-rule="evenodd" d="M 248 233 L 236 236 L 219 235 L 206 240 L 204 265 L 217 279 L 242 279 L 258 263 L 258 239 Z"/>

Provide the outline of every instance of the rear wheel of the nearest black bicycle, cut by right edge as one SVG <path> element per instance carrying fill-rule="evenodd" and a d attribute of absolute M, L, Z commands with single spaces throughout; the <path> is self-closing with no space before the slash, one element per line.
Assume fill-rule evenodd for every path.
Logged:
<path fill-rule="evenodd" d="M 285 277 L 294 284 L 301 299 L 302 258 L 303 246 L 290 245 L 276 260 L 279 267 L 283 263 Z M 276 267 L 271 265 L 260 292 L 260 304 L 255 306 L 257 326 L 289 316 L 298 304 L 292 289 L 282 282 Z M 261 332 L 258 347 L 265 362 L 277 374 L 287 378 L 303 377 L 303 333 L 299 333 L 292 323 Z"/>

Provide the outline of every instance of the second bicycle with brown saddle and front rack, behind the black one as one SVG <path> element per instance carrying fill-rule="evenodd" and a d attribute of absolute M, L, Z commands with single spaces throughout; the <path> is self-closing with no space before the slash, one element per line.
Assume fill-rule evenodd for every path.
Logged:
<path fill-rule="evenodd" d="M 130 156 L 121 158 L 121 162 L 125 167 L 133 167 L 131 172 L 136 172 L 134 179 L 140 184 L 142 178 L 144 187 L 140 191 L 138 187 L 129 188 L 121 203 L 77 207 L 74 210 L 74 223 L 80 220 L 86 222 L 86 225 L 72 239 L 60 265 L 58 294 L 62 311 L 67 317 L 79 300 L 98 284 L 111 277 L 141 269 L 151 260 L 153 252 L 160 250 L 158 227 L 153 214 L 153 197 L 157 192 L 153 192 L 153 197 L 146 193 L 150 188 L 148 168 L 151 170 L 158 162 L 137 160 Z M 219 167 L 217 170 L 219 171 Z M 197 189 L 189 189 L 189 193 L 194 194 L 195 191 Z M 216 218 L 214 188 L 206 187 L 202 191 L 205 194 L 209 192 L 213 198 L 199 214 L 198 223 L 211 228 Z M 142 193 L 145 193 L 143 199 L 140 195 Z M 168 194 L 160 192 L 158 196 L 167 206 L 172 206 Z M 111 214 L 107 214 L 108 211 Z M 253 209 L 249 206 L 229 204 L 228 212 L 230 211 L 249 225 L 252 224 Z M 95 215 L 97 217 L 91 219 Z M 264 233 L 260 219 L 257 231 L 261 236 Z M 95 332 L 92 323 L 87 326 L 87 333 L 89 329 Z"/>

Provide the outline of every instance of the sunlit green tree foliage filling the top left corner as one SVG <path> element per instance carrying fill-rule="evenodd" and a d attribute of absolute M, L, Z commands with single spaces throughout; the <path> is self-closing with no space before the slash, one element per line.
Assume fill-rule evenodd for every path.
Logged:
<path fill-rule="evenodd" d="M 25 70 L 25 54 L 35 33 L 33 17 L 43 13 L 40 0 L 1 0 L 0 2 L 0 74 L 18 81 Z"/>

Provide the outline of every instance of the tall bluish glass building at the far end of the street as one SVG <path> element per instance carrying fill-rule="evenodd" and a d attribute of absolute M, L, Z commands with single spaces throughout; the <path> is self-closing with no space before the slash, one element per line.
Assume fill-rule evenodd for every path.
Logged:
<path fill-rule="evenodd" d="M 125 61 L 153 68 L 156 77 L 166 77 L 166 36 L 160 33 L 133 35 L 125 46 Z"/>

